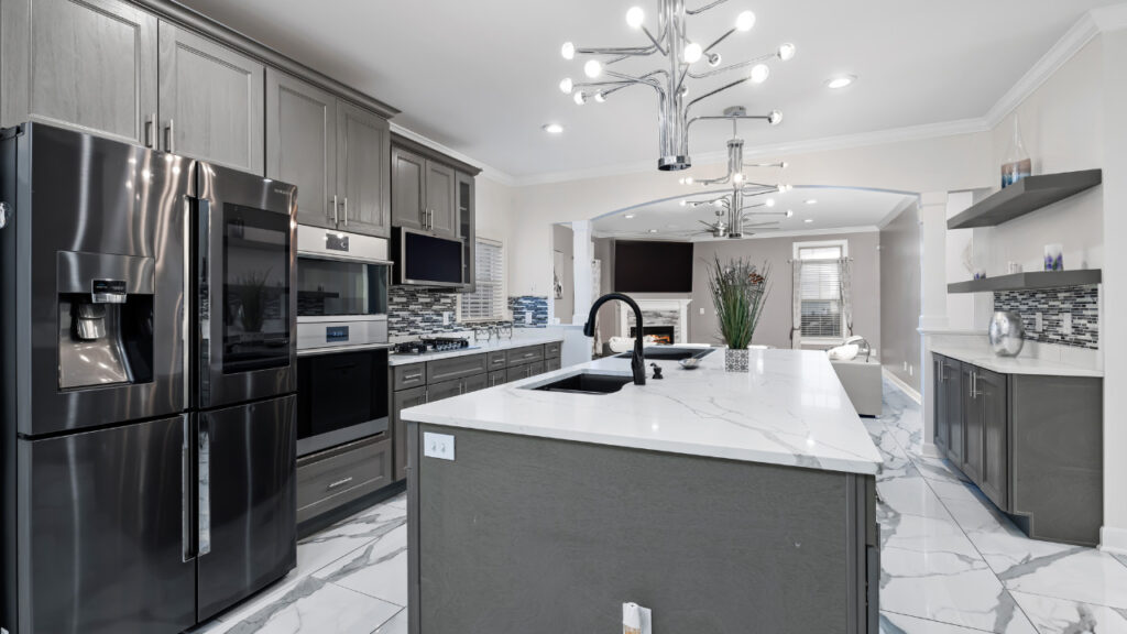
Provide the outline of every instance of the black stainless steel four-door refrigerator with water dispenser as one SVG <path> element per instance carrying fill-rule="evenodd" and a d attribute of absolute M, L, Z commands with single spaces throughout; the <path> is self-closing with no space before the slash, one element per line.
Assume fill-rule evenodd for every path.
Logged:
<path fill-rule="evenodd" d="M 0 627 L 174 634 L 295 565 L 295 194 L 3 132 Z"/>

